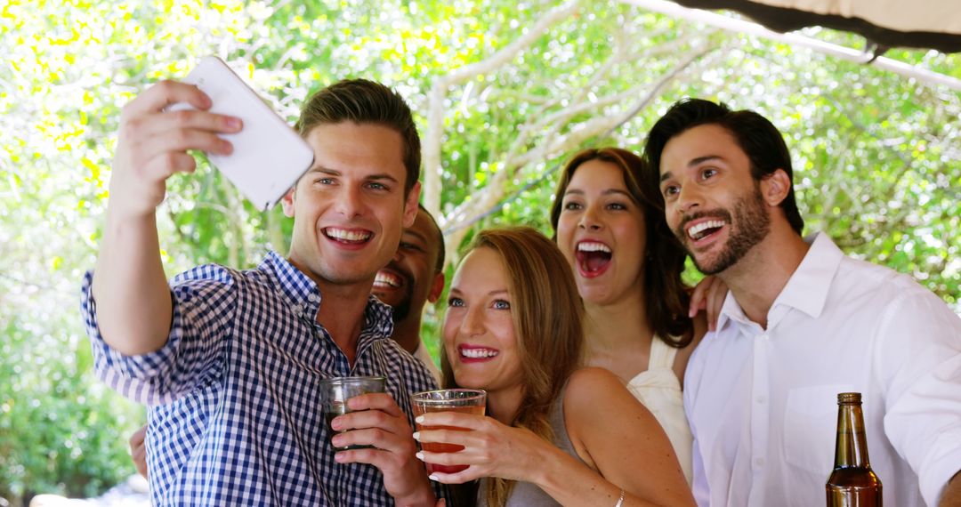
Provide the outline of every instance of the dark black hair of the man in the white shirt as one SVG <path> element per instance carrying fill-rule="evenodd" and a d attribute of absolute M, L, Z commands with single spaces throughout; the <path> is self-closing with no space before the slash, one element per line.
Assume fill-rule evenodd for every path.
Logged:
<path fill-rule="evenodd" d="M 801 234 L 804 219 L 798 210 L 794 196 L 794 170 L 784 137 L 767 118 L 749 110 L 731 110 L 724 103 L 702 99 L 681 99 L 661 116 L 648 133 L 644 145 L 644 159 L 648 177 L 642 183 L 645 193 L 655 205 L 664 209 L 664 197 L 660 194 L 660 161 L 664 146 L 675 136 L 702 125 L 717 125 L 729 132 L 751 160 L 751 176 L 760 181 L 777 169 L 783 169 L 792 184 L 787 197 L 781 201 L 791 228 Z"/>

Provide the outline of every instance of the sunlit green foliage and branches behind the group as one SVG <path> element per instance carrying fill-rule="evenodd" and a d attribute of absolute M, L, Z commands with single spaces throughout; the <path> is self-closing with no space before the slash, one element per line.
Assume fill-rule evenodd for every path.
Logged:
<path fill-rule="evenodd" d="M 91 494 L 131 471 L 126 435 L 140 408 L 92 377 L 75 309 L 99 242 L 124 104 L 216 54 L 289 120 L 309 92 L 371 77 L 408 98 L 426 135 L 433 84 L 510 47 L 557 5 L 0 7 L 0 496 L 28 488 Z M 862 44 L 825 30 L 805 34 Z M 961 78 L 957 55 L 887 56 Z M 441 90 L 436 191 L 454 240 L 497 224 L 549 232 L 551 171 L 587 146 L 639 150 L 664 109 L 695 95 L 757 109 L 785 133 L 808 231 L 826 230 L 850 254 L 910 274 L 961 308 L 957 92 L 625 3 L 586 1 L 503 63 L 452 83 Z M 253 265 L 268 248 L 285 252 L 291 227 L 280 209 L 243 202 L 203 162 L 195 175 L 169 181 L 158 220 L 170 275 L 202 262 Z M 439 317 L 431 311 L 426 319 L 431 348 Z"/>

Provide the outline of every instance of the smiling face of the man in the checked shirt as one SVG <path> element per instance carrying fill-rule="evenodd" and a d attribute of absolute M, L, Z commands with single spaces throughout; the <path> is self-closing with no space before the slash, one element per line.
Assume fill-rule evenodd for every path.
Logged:
<path fill-rule="evenodd" d="M 401 136 L 342 122 L 313 127 L 307 141 L 314 164 L 283 199 L 294 218 L 290 261 L 318 284 L 369 287 L 417 212 L 419 186 L 404 191 Z"/>

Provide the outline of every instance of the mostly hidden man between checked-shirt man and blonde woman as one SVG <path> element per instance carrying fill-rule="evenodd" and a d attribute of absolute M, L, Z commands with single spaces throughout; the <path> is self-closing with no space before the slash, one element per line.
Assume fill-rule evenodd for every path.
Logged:
<path fill-rule="evenodd" d="M 397 254 L 377 273 L 370 293 L 394 309 L 390 335 L 421 360 L 441 384 L 440 370 L 420 337 L 427 302 L 437 302 L 444 291 L 444 235 L 431 213 L 420 205 L 414 224 L 404 229 Z"/>

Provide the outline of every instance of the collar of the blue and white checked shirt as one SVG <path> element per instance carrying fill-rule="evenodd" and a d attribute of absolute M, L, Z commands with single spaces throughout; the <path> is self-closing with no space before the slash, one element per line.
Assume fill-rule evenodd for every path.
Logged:
<path fill-rule="evenodd" d="M 291 306 L 291 310 L 313 321 L 320 309 L 323 297 L 320 288 L 307 275 L 276 252 L 268 252 L 258 269 L 271 275 L 280 287 L 280 293 Z M 364 307 L 362 335 L 388 337 L 394 331 L 391 307 L 380 302 L 373 295 L 367 298 Z"/>

